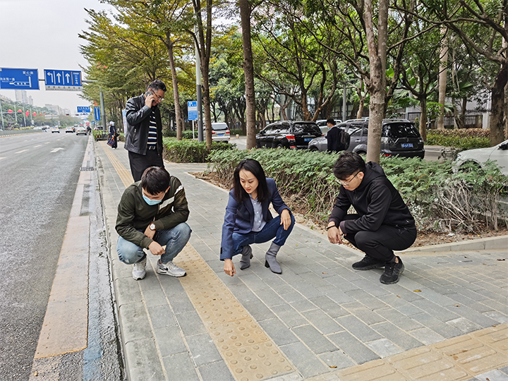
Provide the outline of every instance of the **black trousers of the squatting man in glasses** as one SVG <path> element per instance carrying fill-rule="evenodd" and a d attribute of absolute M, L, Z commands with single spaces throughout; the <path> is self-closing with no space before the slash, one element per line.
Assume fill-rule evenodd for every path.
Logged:
<path fill-rule="evenodd" d="M 348 214 L 344 219 L 358 219 L 358 214 Z M 357 231 L 344 235 L 356 248 L 380 262 L 394 258 L 393 250 L 406 250 L 416 240 L 416 227 L 401 228 L 381 225 L 376 231 Z"/>

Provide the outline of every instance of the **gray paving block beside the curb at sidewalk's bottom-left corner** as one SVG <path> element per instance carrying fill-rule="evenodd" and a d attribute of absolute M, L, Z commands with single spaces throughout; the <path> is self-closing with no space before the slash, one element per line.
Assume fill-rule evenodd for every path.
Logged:
<path fill-rule="evenodd" d="M 157 347 L 151 337 L 126 342 L 125 356 L 130 380 L 150 381 L 165 379 Z M 193 368 L 191 370 L 194 371 Z"/>

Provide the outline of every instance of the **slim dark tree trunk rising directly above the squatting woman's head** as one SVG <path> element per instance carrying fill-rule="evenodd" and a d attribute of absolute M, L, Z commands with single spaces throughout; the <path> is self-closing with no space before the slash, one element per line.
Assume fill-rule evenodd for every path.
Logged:
<path fill-rule="evenodd" d="M 254 63 L 252 44 L 250 42 L 250 4 L 248 0 L 239 0 L 243 40 L 243 75 L 246 81 L 246 117 L 247 117 L 247 150 L 255 143 L 255 92 Z"/>

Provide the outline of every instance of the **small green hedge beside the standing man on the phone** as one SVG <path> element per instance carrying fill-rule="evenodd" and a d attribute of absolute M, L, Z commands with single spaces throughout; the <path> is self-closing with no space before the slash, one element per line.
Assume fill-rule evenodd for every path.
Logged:
<path fill-rule="evenodd" d="M 205 163 L 210 152 L 220 150 L 236 150 L 234 144 L 212 142 L 209 150 L 205 142 L 197 140 L 176 140 L 176 138 L 164 138 L 164 159 L 175 163 Z"/>

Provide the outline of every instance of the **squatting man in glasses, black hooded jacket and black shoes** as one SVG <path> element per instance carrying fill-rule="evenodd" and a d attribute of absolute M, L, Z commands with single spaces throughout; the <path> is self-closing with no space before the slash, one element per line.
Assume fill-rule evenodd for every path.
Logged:
<path fill-rule="evenodd" d="M 353 263 L 355 270 L 385 267 L 380 282 L 399 282 L 404 264 L 393 250 L 406 250 L 416 240 L 416 226 L 399 191 L 379 164 L 353 152 L 344 152 L 333 172 L 341 187 L 328 219 L 328 239 L 342 243 L 342 236 L 366 255 Z M 357 214 L 348 214 L 353 205 Z"/>

